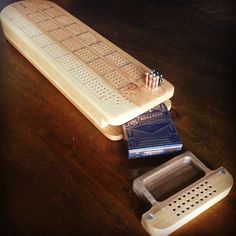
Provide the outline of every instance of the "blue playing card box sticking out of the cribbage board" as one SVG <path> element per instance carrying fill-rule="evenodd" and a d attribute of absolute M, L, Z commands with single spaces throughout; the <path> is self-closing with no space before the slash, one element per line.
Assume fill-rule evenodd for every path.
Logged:
<path fill-rule="evenodd" d="M 129 159 L 177 152 L 183 146 L 164 104 L 125 123 L 123 130 Z"/>

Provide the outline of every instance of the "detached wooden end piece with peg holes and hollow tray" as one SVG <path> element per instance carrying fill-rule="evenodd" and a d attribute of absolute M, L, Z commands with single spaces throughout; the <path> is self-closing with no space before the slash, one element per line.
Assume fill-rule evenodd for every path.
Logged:
<path fill-rule="evenodd" d="M 133 190 L 152 208 L 141 223 L 150 235 L 169 235 L 216 202 L 233 185 L 223 167 L 208 169 L 191 152 L 185 152 L 133 182 Z"/>

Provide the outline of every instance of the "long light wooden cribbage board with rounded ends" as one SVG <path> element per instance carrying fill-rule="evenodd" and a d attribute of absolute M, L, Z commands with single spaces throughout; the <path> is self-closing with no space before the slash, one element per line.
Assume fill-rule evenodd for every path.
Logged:
<path fill-rule="evenodd" d="M 20 1 L 1 12 L 6 38 L 108 138 L 120 125 L 167 101 L 164 80 L 145 87 L 148 67 L 48 1 Z"/>

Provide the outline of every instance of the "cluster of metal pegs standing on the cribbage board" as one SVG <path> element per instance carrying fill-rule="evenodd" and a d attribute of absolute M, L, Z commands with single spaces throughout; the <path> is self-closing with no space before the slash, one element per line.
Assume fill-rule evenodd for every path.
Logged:
<path fill-rule="evenodd" d="M 163 76 L 156 70 L 151 70 L 145 74 L 145 85 L 151 91 L 157 90 L 158 86 L 160 86 L 162 82 Z"/>

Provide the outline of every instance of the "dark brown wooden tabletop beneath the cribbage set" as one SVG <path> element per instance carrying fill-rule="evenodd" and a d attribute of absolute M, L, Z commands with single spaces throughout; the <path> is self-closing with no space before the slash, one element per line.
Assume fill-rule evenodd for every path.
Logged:
<path fill-rule="evenodd" d="M 13 1 L 3 0 L 0 9 Z M 171 115 L 208 167 L 235 178 L 234 1 L 57 1 L 174 84 Z M 1 235 L 147 235 L 127 160 L 0 32 Z M 184 151 L 183 150 L 183 151 Z M 236 233 L 235 187 L 173 235 Z"/>

